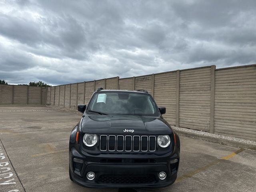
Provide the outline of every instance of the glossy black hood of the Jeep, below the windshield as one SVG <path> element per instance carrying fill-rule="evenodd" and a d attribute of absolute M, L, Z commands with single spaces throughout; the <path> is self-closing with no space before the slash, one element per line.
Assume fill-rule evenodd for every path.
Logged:
<path fill-rule="evenodd" d="M 124 132 L 124 130 L 134 130 L 134 132 Z M 82 120 L 82 132 L 129 135 L 171 134 L 172 129 L 161 117 L 86 114 Z"/>

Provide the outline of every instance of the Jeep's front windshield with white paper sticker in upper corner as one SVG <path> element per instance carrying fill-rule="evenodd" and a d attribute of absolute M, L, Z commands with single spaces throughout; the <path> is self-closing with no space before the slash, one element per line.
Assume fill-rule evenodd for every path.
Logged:
<path fill-rule="evenodd" d="M 87 109 L 104 114 L 159 115 L 157 106 L 149 95 L 129 92 L 96 93 Z"/>

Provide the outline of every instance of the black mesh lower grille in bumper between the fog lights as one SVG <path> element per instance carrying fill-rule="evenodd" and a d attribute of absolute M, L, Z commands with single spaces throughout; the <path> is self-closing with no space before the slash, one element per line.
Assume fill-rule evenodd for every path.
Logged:
<path fill-rule="evenodd" d="M 146 184 L 156 182 L 156 177 L 151 174 L 143 175 L 101 175 L 99 183 L 106 184 Z"/>

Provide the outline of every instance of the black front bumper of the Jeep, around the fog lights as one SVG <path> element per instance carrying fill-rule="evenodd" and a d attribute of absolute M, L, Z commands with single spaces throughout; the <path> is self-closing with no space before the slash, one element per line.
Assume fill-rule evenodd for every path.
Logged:
<path fill-rule="evenodd" d="M 120 158 L 122 156 L 122 158 Z M 155 154 L 80 154 L 76 148 L 69 151 L 71 176 L 74 182 L 90 188 L 108 187 L 166 187 L 173 184 L 177 178 L 180 150 Z M 74 160 L 75 158 L 75 160 Z M 148 163 L 129 163 L 132 159 L 150 159 Z M 128 160 L 128 163 L 103 163 L 102 159 Z M 73 162 L 74 160 L 74 162 Z M 81 162 L 81 164 L 77 164 Z M 88 172 L 94 172 L 95 178 L 88 180 Z M 164 180 L 158 178 L 160 172 L 166 172 Z M 103 178 L 103 179 L 102 179 Z M 109 180 L 108 180 L 109 179 Z"/>

